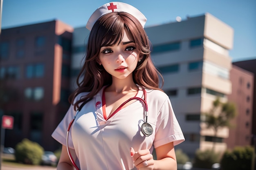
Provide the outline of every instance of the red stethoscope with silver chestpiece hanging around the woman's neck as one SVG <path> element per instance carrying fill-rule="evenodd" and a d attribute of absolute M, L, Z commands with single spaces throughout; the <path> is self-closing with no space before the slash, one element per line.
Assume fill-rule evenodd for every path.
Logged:
<path fill-rule="evenodd" d="M 114 113 L 112 113 L 108 118 L 105 117 L 104 118 L 106 120 L 110 119 L 112 116 L 114 116 L 119 110 L 121 110 L 121 108 L 128 102 L 130 102 L 131 100 L 139 100 L 141 102 L 141 104 L 143 105 L 144 108 L 144 114 L 146 115 L 145 118 L 145 122 L 141 125 L 141 132 L 143 133 L 143 135 L 145 135 L 146 137 L 148 137 L 149 135 L 151 135 L 153 133 L 153 128 L 152 126 L 148 123 L 148 105 L 146 102 L 146 90 L 143 88 L 143 95 L 145 99 L 142 99 L 141 97 L 132 97 L 128 100 L 126 100 L 124 103 L 122 103 L 116 110 Z M 67 137 L 66 137 L 66 147 L 67 147 L 67 153 L 68 156 L 70 157 L 70 161 L 72 162 L 73 166 L 76 168 L 76 170 L 79 170 L 79 168 L 76 166 L 76 163 L 74 161 L 74 159 L 72 158 L 72 155 L 70 153 L 70 149 L 68 147 L 68 134 L 70 132 L 70 128 L 76 118 L 76 115 L 79 113 L 79 111 L 81 110 L 81 108 L 84 106 L 85 103 L 81 104 L 81 106 L 79 106 L 79 109 L 76 111 L 76 114 L 74 116 L 74 118 L 72 119 L 72 121 L 70 121 L 70 124 L 67 127 Z M 102 95 L 102 107 L 105 107 L 105 94 L 104 94 L 104 90 L 103 90 L 103 95 Z"/>

